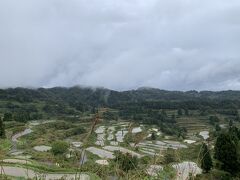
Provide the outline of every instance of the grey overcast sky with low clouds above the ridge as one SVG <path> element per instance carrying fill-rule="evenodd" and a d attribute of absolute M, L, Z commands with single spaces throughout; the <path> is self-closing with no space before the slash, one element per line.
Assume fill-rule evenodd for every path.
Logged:
<path fill-rule="evenodd" d="M 240 90 L 239 0 L 0 0 L 0 87 Z"/>

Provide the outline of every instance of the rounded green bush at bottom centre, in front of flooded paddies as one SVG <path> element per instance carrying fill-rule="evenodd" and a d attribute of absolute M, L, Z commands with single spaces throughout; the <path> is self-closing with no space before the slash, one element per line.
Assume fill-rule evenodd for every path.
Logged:
<path fill-rule="evenodd" d="M 114 161 L 118 165 L 118 168 L 128 172 L 129 170 L 132 169 L 137 169 L 138 166 L 138 159 L 136 156 L 132 156 L 131 154 L 124 154 L 120 151 L 115 151 L 114 152 L 115 159 Z"/>

